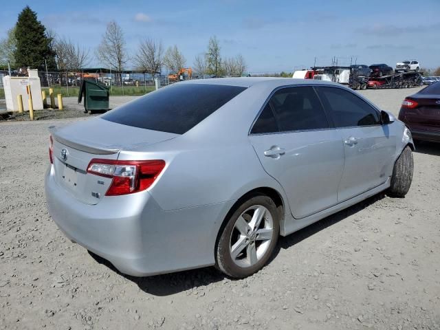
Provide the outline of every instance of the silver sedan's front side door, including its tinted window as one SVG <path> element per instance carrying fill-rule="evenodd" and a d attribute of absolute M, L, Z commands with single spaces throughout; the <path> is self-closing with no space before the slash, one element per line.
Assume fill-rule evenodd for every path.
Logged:
<path fill-rule="evenodd" d="M 382 125 L 380 111 L 346 89 L 317 90 L 344 144 L 345 164 L 338 201 L 384 184 L 392 173 L 396 137 L 388 125 Z"/>

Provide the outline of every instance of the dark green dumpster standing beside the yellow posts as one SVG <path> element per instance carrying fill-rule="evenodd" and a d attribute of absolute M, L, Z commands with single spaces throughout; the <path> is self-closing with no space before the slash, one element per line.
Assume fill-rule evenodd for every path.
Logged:
<path fill-rule="evenodd" d="M 78 103 L 83 100 L 84 96 L 84 112 L 92 113 L 93 111 L 109 110 L 109 88 L 103 83 L 95 80 L 84 79 L 81 82 L 80 94 L 78 95 Z"/>

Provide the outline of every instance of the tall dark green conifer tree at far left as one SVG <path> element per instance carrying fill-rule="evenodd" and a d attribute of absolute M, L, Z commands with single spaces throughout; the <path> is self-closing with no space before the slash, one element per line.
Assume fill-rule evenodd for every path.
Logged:
<path fill-rule="evenodd" d="M 47 37 L 46 29 L 37 19 L 36 12 L 28 5 L 19 14 L 15 37 L 17 49 L 14 57 L 17 67 L 30 67 L 43 71 L 46 60 L 47 69 L 56 69 L 55 53 L 50 47 L 52 40 Z"/>

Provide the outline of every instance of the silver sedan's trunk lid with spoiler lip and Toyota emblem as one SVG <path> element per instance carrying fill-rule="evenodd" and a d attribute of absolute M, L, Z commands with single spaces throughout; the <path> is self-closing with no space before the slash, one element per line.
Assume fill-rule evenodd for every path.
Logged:
<path fill-rule="evenodd" d="M 104 197 L 112 179 L 87 173 L 91 159 L 118 159 L 120 151 L 134 151 L 178 136 L 100 118 L 52 127 L 50 131 L 56 183 L 79 201 L 92 205 Z"/>

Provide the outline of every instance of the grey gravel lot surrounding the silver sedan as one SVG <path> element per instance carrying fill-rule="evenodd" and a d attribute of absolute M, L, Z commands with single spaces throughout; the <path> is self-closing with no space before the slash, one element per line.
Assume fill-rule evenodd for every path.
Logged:
<path fill-rule="evenodd" d="M 415 90 L 362 93 L 397 114 Z M 0 123 L 0 329 L 440 329 L 440 145 L 418 145 L 405 199 L 377 195 L 281 238 L 250 278 L 132 278 L 47 214 L 47 126 L 71 121 Z"/>

